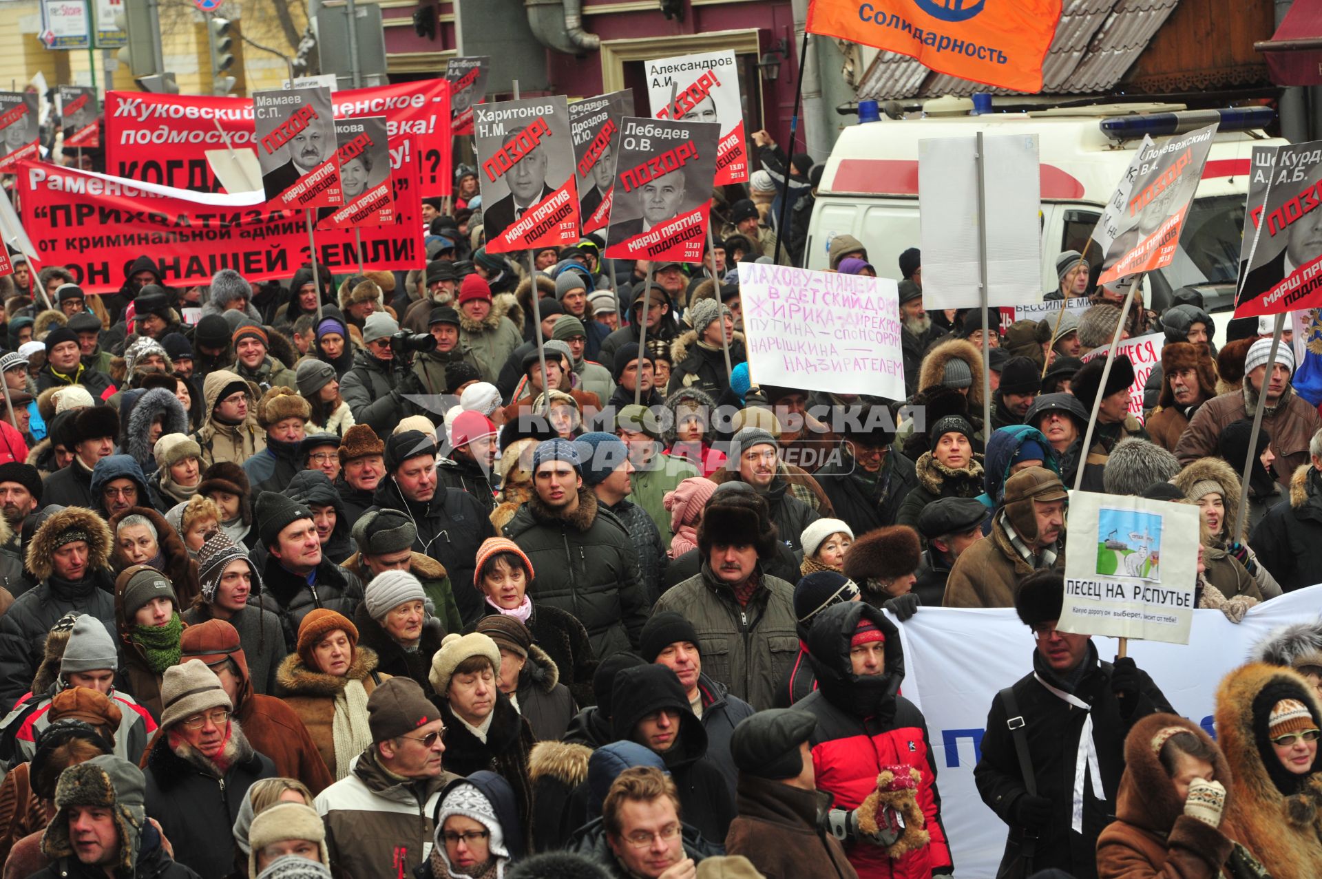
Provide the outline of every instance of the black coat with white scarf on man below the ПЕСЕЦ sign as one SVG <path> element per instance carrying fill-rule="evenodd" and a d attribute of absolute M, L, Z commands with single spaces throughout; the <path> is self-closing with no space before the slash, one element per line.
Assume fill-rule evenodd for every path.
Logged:
<path fill-rule="evenodd" d="M 1092 644 L 1088 645 L 1084 662 L 1088 665 L 1088 671 L 1075 687 L 1073 695 L 1092 706 L 1088 712 L 1072 707 L 1052 694 L 1032 674 L 1019 678 L 1013 687 L 1019 715 L 1026 722 L 1023 730 L 1027 735 L 1038 796 L 1046 797 L 1052 805 L 1050 823 L 1038 831 L 1032 870 L 1064 870 L 1077 879 L 1097 875 L 1097 835 L 1116 814 L 1116 793 L 1120 790 L 1120 776 L 1125 771 L 1125 736 L 1134 723 L 1154 711 L 1174 712 L 1153 679 L 1140 670 L 1138 702 L 1133 714 L 1122 718 L 1120 702 L 1110 690 L 1110 664 L 1097 661 L 1097 650 Z M 1036 652 L 1032 654 L 1032 668 L 1044 681 L 1066 690 L 1063 681 Z M 1075 759 L 1084 719 L 1089 715 L 1104 798 L 1099 800 L 1092 785 L 1085 783 L 1088 789 L 1083 796 L 1083 833 L 1079 834 L 1069 827 L 1073 813 Z M 1019 851 L 1025 829 L 1014 826 L 1013 816 L 1015 801 L 1027 794 L 1006 718 L 1005 703 L 995 697 L 988 712 L 982 757 L 973 769 L 973 780 L 978 785 L 982 802 L 1010 825 L 1002 863 L 1007 863 Z M 1084 777 L 1087 776 L 1085 772 Z"/>

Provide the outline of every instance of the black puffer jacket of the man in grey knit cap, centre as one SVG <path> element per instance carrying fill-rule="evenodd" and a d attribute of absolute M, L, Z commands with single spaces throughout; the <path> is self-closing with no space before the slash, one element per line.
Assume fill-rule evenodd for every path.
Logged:
<path fill-rule="evenodd" d="M 534 604 L 558 607 L 587 629 L 596 656 L 637 646 L 650 604 L 639 579 L 639 556 L 620 519 L 579 489 L 568 517 L 546 509 L 537 494 L 505 526 L 537 572 L 527 590 Z M 451 575 L 453 576 L 453 575 Z"/>

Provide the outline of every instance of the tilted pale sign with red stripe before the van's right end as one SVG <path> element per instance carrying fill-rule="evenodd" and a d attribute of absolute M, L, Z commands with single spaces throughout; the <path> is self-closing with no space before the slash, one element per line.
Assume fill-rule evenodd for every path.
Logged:
<path fill-rule="evenodd" d="M 1171 263 L 1215 137 L 1214 123 L 1159 144 L 1144 139 L 1093 230 L 1103 252 L 1099 286 Z"/>

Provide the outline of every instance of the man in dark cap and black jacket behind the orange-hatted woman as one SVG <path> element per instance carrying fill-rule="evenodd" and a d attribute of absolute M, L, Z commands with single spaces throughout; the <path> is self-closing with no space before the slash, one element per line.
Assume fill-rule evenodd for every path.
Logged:
<path fill-rule="evenodd" d="M 496 529 L 483 505 L 468 492 L 436 484 L 436 440 L 422 431 L 402 431 L 386 440 L 386 476 L 373 496 L 375 509 L 399 510 L 418 527 L 412 549 L 449 574 L 449 586 L 464 625 L 485 616 L 481 593 L 472 588 L 477 549 Z"/>

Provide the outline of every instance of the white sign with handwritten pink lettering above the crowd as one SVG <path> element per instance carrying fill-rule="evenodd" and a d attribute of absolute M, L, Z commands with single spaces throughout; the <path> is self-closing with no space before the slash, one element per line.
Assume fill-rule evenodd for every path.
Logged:
<path fill-rule="evenodd" d="M 739 263 L 739 295 L 759 383 L 904 399 L 895 280 Z"/>

